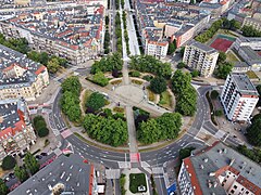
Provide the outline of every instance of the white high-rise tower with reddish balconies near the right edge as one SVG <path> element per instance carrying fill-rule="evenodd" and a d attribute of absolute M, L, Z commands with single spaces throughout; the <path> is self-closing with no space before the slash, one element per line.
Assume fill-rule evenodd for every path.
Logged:
<path fill-rule="evenodd" d="M 233 73 L 227 76 L 220 98 L 228 120 L 248 121 L 259 93 L 246 74 Z"/>

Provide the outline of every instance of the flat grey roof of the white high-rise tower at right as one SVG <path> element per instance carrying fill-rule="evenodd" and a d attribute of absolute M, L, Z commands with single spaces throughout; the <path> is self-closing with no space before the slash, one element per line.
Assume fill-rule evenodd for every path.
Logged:
<path fill-rule="evenodd" d="M 243 73 L 233 73 L 231 74 L 232 78 L 234 79 L 239 92 L 241 94 L 247 94 L 247 95 L 259 95 L 256 87 L 253 83 L 250 81 L 248 76 Z"/>

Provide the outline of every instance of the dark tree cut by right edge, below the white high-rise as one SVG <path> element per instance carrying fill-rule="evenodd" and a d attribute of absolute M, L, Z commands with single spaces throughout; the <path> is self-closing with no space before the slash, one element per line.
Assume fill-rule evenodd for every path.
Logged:
<path fill-rule="evenodd" d="M 256 146 L 261 146 L 261 114 L 256 115 L 251 119 L 251 126 L 247 128 L 247 139 L 248 141 L 256 145 Z"/>

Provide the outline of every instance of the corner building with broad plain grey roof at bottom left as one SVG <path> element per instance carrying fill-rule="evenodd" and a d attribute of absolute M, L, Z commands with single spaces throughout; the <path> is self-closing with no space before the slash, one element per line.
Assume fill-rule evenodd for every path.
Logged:
<path fill-rule="evenodd" d="M 61 155 L 10 193 L 21 194 L 98 194 L 95 168 L 77 154 Z"/>

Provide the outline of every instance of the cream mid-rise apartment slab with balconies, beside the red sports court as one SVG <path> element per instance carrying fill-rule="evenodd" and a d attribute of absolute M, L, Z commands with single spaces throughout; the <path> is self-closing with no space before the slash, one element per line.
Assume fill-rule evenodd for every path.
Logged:
<path fill-rule="evenodd" d="M 219 52 L 200 42 L 186 46 L 183 62 L 191 69 L 197 69 L 202 77 L 210 77 L 215 68 Z"/>

